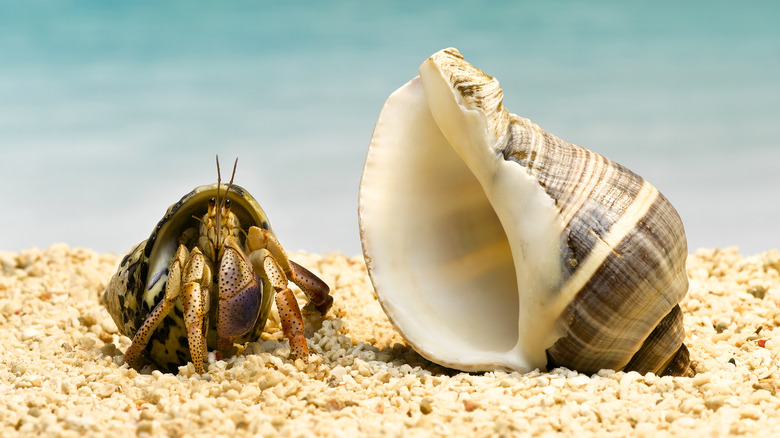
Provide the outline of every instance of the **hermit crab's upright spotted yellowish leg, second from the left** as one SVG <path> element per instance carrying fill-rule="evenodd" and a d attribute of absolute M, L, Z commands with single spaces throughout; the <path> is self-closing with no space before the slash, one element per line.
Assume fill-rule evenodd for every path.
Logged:
<path fill-rule="evenodd" d="M 195 247 L 190 253 L 187 265 L 184 267 L 184 284 L 182 286 L 182 310 L 184 310 L 184 325 L 187 327 L 187 341 L 190 345 L 190 356 L 195 372 L 203 374 L 203 362 L 206 360 L 206 338 L 204 336 L 204 321 L 208 318 L 209 286 L 211 284 L 211 269 L 206 263 L 206 257 Z"/>

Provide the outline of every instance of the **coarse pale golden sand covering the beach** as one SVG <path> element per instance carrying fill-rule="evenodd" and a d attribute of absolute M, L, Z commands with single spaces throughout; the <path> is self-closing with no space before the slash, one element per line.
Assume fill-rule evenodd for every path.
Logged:
<path fill-rule="evenodd" d="M 567 369 L 467 374 L 408 348 L 362 257 L 294 254 L 333 289 L 309 318 L 310 363 L 267 338 L 207 375 L 122 365 L 99 304 L 119 257 L 54 245 L 0 252 L 0 436 L 679 436 L 780 434 L 780 253 L 688 258 L 694 377 Z"/>

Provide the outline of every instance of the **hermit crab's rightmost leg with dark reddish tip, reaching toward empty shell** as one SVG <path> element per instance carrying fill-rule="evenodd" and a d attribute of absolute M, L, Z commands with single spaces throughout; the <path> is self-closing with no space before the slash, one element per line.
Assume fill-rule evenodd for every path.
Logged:
<path fill-rule="evenodd" d="M 333 304 L 328 285 L 308 269 L 288 259 L 282 244 L 270 231 L 259 227 L 249 228 L 247 246 L 250 251 L 267 249 L 276 260 L 277 266 L 287 278 L 301 288 L 317 310 L 323 315 L 328 312 Z"/>

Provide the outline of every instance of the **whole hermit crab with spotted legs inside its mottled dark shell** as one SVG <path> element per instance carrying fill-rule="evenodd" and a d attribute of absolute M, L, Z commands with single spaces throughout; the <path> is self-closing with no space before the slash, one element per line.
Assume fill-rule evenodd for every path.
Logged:
<path fill-rule="evenodd" d="M 236 160 L 237 161 L 237 160 Z M 142 356 L 173 371 L 192 361 L 204 373 L 207 351 L 223 356 L 260 339 L 275 300 L 291 351 L 304 362 L 303 318 L 288 280 L 323 315 L 328 286 L 287 258 L 257 201 L 233 184 L 196 187 L 168 208 L 149 238 L 122 259 L 102 302 L 132 338 L 125 362 Z M 233 167 L 235 175 L 235 165 Z"/>

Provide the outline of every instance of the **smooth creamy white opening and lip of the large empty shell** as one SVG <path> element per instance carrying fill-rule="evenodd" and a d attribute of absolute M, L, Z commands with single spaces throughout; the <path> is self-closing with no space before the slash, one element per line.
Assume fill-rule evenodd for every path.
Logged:
<path fill-rule="evenodd" d="M 393 325 L 465 371 L 544 369 L 563 225 L 432 61 L 385 103 L 360 186 L 366 263 Z"/>

